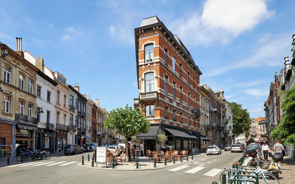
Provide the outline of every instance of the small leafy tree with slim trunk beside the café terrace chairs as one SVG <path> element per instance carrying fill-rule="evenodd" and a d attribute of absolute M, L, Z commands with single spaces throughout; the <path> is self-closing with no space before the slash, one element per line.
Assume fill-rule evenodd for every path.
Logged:
<path fill-rule="evenodd" d="M 132 109 L 126 104 L 125 108 L 112 109 L 110 117 L 104 121 L 104 126 L 115 130 L 116 133 L 125 136 L 126 155 L 128 155 L 128 137 L 139 133 L 147 133 L 150 130 L 150 123 L 139 108 Z M 126 157 L 128 162 L 128 157 Z"/>

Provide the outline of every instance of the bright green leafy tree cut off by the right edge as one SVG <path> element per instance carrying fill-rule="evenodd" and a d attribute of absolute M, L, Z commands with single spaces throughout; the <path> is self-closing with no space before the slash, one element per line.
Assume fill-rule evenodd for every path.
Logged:
<path fill-rule="evenodd" d="M 277 125 L 277 128 L 271 131 L 271 138 L 278 138 L 283 144 L 295 144 L 295 85 L 287 90 L 283 91 L 280 96 L 283 102 L 280 108 L 283 111 L 281 122 Z"/>

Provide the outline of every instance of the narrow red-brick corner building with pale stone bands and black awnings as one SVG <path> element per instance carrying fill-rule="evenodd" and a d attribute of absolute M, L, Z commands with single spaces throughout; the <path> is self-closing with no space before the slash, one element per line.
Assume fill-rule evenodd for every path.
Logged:
<path fill-rule="evenodd" d="M 199 152 L 205 137 L 199 105 L 202 72 L 179 37 L 158 17 L 143 19 L 134 33 L 139 89 L 134 106 L 151 123 L 150 132 L 137 137 L 144 140 L 145 150 L 172 146 Z M 168 136 L 166 143 L 157 144 L 157 132 Z"/>

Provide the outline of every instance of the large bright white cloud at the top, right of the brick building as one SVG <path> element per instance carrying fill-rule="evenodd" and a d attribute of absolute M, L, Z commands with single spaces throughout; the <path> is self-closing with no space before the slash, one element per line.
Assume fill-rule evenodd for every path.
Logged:
<path fill-rule="evenodd" d="M 216 40 L 227 44 L 273 15 L 274 11 L 268 10 L 264 0 L 208 0 L 201 16 L 185 15 L 172 21 L 169 27 L 189 45 L 208 45 Z"/>

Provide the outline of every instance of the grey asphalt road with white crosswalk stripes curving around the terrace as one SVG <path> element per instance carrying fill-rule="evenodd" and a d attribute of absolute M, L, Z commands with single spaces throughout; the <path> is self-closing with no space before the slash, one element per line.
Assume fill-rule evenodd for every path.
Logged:
<path fill-rule="evenodd" d="M 88 153 L 84 153 L 85 159 Z M 195 157 L 195 162 L 177 163 L 173 167 L 147 171 L 97 170 L 77 167 L 81 154 L 0 168 L 0 183 L 219 183 L 219 174 L 224 167 L 241 158 L 242 153 L 223 151 L 221 155 Z M 49 163 L 51 162 L 51 163 Z M 37 164 L 36 164 L 37 163 Z M 53 165 L 54 164 L 54 165 Z"/>

